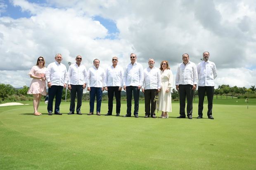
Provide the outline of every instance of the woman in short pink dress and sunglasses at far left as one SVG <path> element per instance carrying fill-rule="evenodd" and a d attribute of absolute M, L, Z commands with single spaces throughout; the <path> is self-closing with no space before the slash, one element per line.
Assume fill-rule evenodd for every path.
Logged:
<path fill-rule="evenodd" d="M 45 59 L 40 56 L 37 59 L 36 65 L 33 66 L 31 68 L 31 71 L 28 73 L 28 75 L 33 78 L 28 89 L 28 94 L 33 94 L 34 115 L 36 116 L 41 115 L 41 113 L 37 110 L 42 95 L 46 95 L 45 71 Z"/>

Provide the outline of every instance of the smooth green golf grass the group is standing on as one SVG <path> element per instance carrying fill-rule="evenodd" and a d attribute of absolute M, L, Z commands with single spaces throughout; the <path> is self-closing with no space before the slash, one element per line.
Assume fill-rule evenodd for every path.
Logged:
<path fill-rule="evenodd" d="M 214 104 L 211 120 L 196 119 L 195 103 L 190 120 L 176 119 L 178 102 L 169 119 L 143 118 L 143 102 L 138 119 L 103 116 L 107 103 L 102 103 L 102 116 L 68 115 L 69 102 L 61 104 L 63 115 L 48 116 L 42 102 L 38 111 L 43 115 L 33 116 L 28 103 L 0 107 L 1 170 L 256 169 L 255 105 Z M 81 111 L 88 113 L 88 102 Z"/>

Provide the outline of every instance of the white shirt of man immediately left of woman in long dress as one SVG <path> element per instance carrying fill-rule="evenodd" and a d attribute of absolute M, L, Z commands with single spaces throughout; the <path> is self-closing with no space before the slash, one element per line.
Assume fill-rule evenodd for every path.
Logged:
<path fill-rule="evenodd" d="M 153 67 L 152 69 L 144 69 L 144 81 L 143 87 L 145 90 L 148 89 L 160 89 L 161 88 L 161 73 L 159 68 Z"/>

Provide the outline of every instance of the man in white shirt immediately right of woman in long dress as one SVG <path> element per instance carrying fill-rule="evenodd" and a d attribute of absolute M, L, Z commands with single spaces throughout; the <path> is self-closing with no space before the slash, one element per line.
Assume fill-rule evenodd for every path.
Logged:
<path fill-rule="evenodd" d="M 177 118 L 185 118 L 185 99 L 187 97 L 187 118 L 192 119 L 193 96 L 194 90 L 197 88 L 197 66 L 189 61 L 188 54 L 182 55 L 183 63 L 178 66 L 175 85 L 180 93 L 180 116 Z"/>

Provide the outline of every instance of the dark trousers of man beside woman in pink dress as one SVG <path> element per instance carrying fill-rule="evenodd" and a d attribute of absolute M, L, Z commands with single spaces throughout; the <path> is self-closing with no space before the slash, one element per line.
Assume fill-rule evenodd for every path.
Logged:
<path fill-rule="evenodd" d="M 47 105 L 48 112 L 52 112 L 52 103 L 53 103 L 54 97 L 56 97 L 54 112 L 55 113 L 59 112 L 59 105 L 62 101 L 62 91 L 63 91 L 63 86 L 53 85 L 51 86 L 51 88 L 48 89 L 48 94 L 49 94 L 49 101 Z"/>

